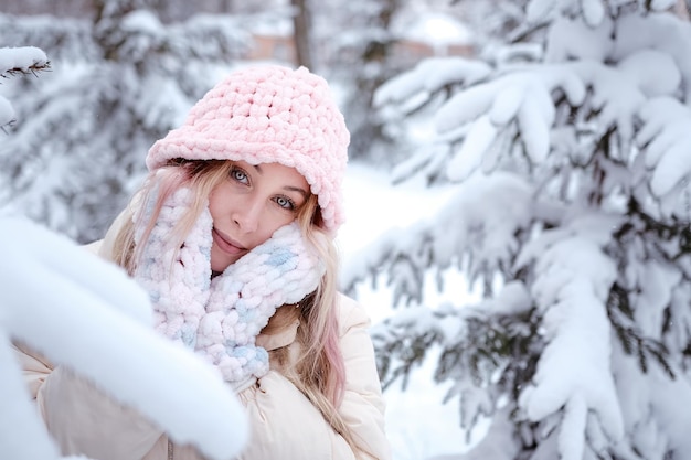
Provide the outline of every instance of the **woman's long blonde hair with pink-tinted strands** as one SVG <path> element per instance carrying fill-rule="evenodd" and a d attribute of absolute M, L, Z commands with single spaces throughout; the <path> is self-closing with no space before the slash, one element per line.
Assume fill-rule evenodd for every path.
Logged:
<path fill-rule="evenodd" d="M 132 199 L 136 213 L 152 210 L 145 222 L 141 240 L 146 242 L 166 200 L 180 186 L 193 193 L 190 212 L 176 224 L 170 240 L 173 247 L 182 245 L 188 233 L 206 205 L 206 199 L 215 185 L 227 176 L 232 169 L 227 160 L 176 159 L 151 172 L 139 193 Z M 141 222 L 140 220 L 138 220 Z M 319 409 L 329 425 L 340 434 L 359 457 L 362 448 L 354 441 L 352 430 L 338 411 L 346 391 L 346 366 L 339 347 L 339 327 L 336 304 L 338 302 L 338 253 L 333 238 L 323 229 L 317 195 L 310 195 L 300 207 L 297 222 L 305 237 L 312 244 L 325 261 L 327 269 L 315 292 L 297 306 L 279 308 L 262 330 L 270 334 L 298 319 L 297 341 L 300 344 L 295 365 L 283 372 Z M 135 225 L 131 220 L 118 231 L 114 243 L 114 260 L 131 276 L 140 257 L 143 244 L 135 244 Z M 272 351 L 272 357 L 287 362 L 287 347 Z"/>

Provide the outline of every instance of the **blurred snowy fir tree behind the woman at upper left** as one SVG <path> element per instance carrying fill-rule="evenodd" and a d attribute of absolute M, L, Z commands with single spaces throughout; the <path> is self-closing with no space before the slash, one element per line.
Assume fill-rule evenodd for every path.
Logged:
<path fill-rule="evenodd" d="M 99 238 L 156 139 L 248 45 L 242 17 L 163 24 L 148 0 L 98 0 L 93 18 L 0 14 L 4 46 L 36 46 L 42 78 L 3 82 L 17 121 L 0 142 L 0 205 L 79 242 Z"/>

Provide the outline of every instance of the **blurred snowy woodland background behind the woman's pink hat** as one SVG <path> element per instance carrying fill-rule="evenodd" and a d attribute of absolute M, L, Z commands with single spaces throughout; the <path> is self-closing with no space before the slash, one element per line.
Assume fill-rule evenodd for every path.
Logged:
<path fill-rule="evenodd" d="M 444 1 L 3 1 L 2 45 L 38 46 L 52 65 L 41 78 L 2 84 L 18 124 L 3 139 L 14 153 L 0 160 L 0 200 L 11 190 L 13 202 L 25 199 L 22 207 L 52 228 L 79 242 L 99 237 L 143 172 L 148 147 L 247 62 L 323 75 L 339 93 L 351 160 L 391 167 L 405 146 L 384 131 L 373 93 L 421 58 L 474 54 L 485 39 L 466 9 Z M 35 181 L 57 168 L 71 178 Z"/>

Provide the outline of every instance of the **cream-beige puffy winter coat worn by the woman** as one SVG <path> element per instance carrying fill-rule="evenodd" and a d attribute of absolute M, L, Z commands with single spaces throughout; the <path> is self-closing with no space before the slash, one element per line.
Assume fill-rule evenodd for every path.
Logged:
<path fill-rule="evenodd" d="M 108 258 L 108 240 L 89 249 Z M 389 460 L 384 402 L 361 306 L 340 296 L 340 344 L 346 362 L 346 395 L 340 414 L 361 448 Z M 272 351 L 288 346 L 294 355 L 296 321 L 277 334 L 261 334 L 258 344 Z M 123 407 L 68 370 L 53 368 L 41 355 L 18 345 L 31 395 L 63 454 L 96 460 L 203 460 L 191 446 L 173 446 L 166 434 L 131 408 Z M 238 460 L 351 460 L 354 454 L 311 403 L 272 363 L 256 386 L 240 395 L 249 415 L 252 438 Z M 174 404 L 174 402 L 171 402 Z"/>

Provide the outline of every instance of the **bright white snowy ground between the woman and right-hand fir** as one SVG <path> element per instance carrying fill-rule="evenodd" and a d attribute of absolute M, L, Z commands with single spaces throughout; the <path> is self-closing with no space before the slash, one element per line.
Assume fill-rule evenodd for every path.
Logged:
<path fill-rule="evenodd" d="M 338 244 L 343 257 L 343 269 L 348 272 L 352 265 L 358 265 L 359 250 L 370 248 L 379 236 L 392 228 L 402 232 L 418 220 L 432 217 L 435 212 L 448 203 L 453 189 L 428 189 L 419 183 L 391 184 L 391 176 L 384 171 L 363 165 L 350 164 L 344 188 L 344 206 L 348 221 L 339 231 Z M 357 271 L 357 270 L 355 270 Z M 425 298 L 429 304 L 445 299 L 467 297 L 469 301 L 477 295 L 470 289 L 465 278 L 450 270 L 446 274 L 444 293 L 428 288 Z M 376 327 L 394 311 L 392 292 L 379 282 L 376 287 L 359 285 L 357 299 L 366 309 Z M 428 282 L 427 286 L 434 286 Z M 421 318 L 421 311 L 412 308 L 411 314 Z M 424 328 L 424 324 L 419 324 Z M 444 396 L 450 384 L 433 383 L 433 372 L 438 353 L 432 350 L 421 368 L 415 370 L 403 391 L 394 384 L 386 389 L 386 431 L 392 443 L 394 460 L 419 460 L 434 456 L 458 453 L 467 450 L 466 431 L 460 428 L 456 403 L 444 404 Z M 421 417 L 421 415 L 423 415 Z M 478 430 L 481 437 L 482 429 Z M 475 437 L 472 438 L 475 441 Z"/>

